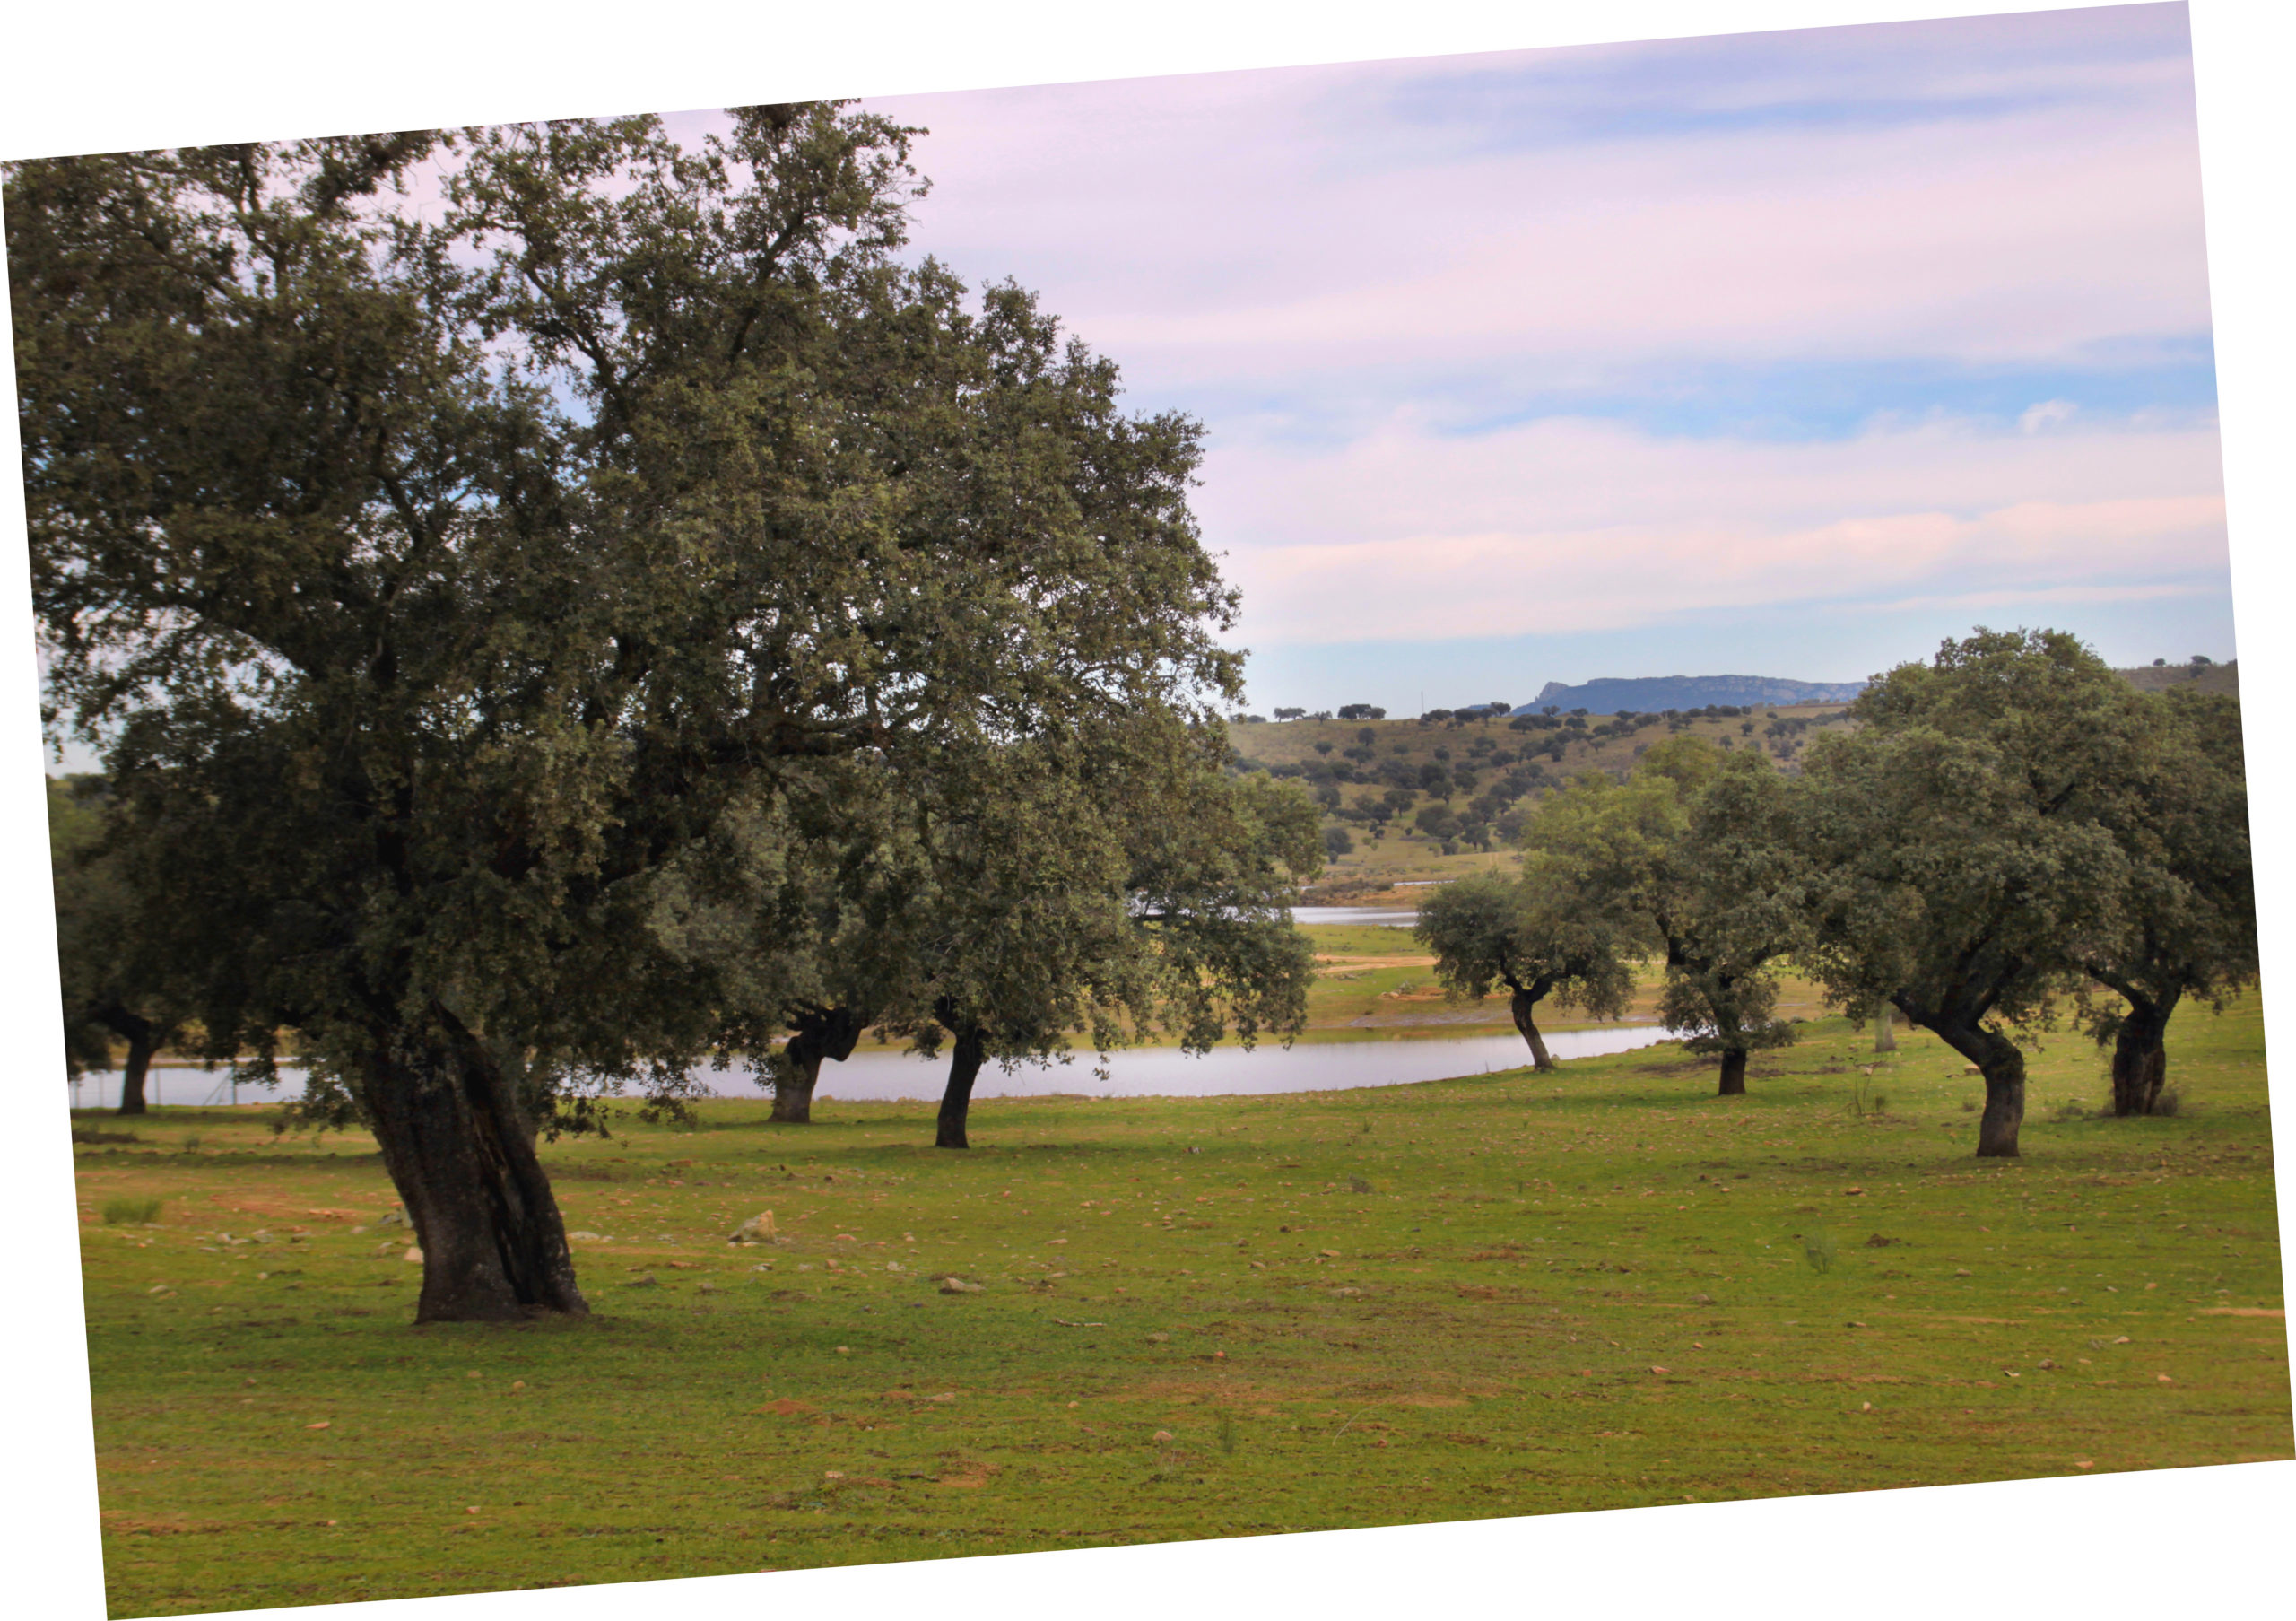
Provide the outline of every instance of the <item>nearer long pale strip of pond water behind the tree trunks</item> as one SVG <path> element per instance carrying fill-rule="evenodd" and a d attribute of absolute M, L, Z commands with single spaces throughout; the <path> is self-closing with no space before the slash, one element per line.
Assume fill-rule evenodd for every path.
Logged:
<path fill-rule="evenodd" d="M 1589 1031 L 1557 1031 L 1548 1049 L 1564 1061 L 1591 1058 L 1603 1052 L 1628 1052 L 1667 1040 L 1658 1024 L 1603 1024 Z M 1093 1075 L 1093 1056 L 1072 1063 L 1026 1063 L 1015 1070 L 990 1065 L 974 1086 L 974 1098 L 1045 1098 L 1049 1093 L 1088 1093 L 1102 1098 L 1215 1098 L 1224 1093 L 1322 1093 L 1350 1086 L 1401 1086 L 1440 1081 L 1453 1075 L 1490 1075 L 1529 1063 L 1520 1036 L 1467 1036 L 1449 1040 L 1368 1040 L 1318 1042 L 1300 1047 L 1215 1047 L 1189 1056 L 1176 1047 L 1139 1047 L 1109 1054 L 1109 1079 Z M 898 1052 L 863 1052 L 845 1063 L 824 1063 L 820 1098 L 930 1100 L 941 1095 L 948 1058 L 912 1058 Z M 218 1070 L 154 1070 L 154 1088 L 145 1095 L 158 1104 L 232 1102 L 230 1075 Z M 746 1065 L 707 1068 L 698 1077 L 719 1098 L 762 1098 Z M 154 1095 L 156 1091 L 156 1095 Z M 303 1095 L 303 1072 L 280 1065 L 280 1086 L 264 1091 L 241 1086 L 243 1102 L 276 1102 Z M 76 1109 L 113 1109 L 119 1104 L 119 1075 L 90 1072 L 71 1088 Z"/>

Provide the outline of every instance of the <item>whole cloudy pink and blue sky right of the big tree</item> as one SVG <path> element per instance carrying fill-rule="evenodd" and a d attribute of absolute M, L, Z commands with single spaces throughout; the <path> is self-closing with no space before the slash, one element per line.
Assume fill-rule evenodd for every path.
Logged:
<path fill-rule="evenodd" d="M 1258 712 L 2234 657 L 2181 5 L 870 106 L 1203 422 Z"/>

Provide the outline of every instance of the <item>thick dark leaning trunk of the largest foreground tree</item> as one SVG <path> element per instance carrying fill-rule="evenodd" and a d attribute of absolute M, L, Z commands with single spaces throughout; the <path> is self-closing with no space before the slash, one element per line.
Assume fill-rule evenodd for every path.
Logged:
<path fill-rule="evenodd" d="M 360 1104 L 422 1247 L 416 1323 L 517 1323 L 590 1304 L 517 1086 L 443 1008 L 377 1031 Z"/>

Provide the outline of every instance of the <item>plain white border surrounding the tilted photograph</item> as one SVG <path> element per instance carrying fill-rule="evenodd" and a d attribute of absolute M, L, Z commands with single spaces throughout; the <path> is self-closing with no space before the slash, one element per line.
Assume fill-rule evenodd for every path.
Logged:
<path fill-rule="evenodd" d="M 595 0 L 308 0 L 39 7 L 16 16 L 0 94 L 0 154 L 39 156 L 200 140 L 494 119 L 687 110 L 817 94 L 902 94 L 1015 83 L 1132 78 L 1235 67 L 1502 51 L 1552 44 L 1816 28 L 2027 5 L 1880 5 L 1874 0 L 1554 0 L 1398 7 L 1166 0 L 815 0 L 606 7 Z M 2287 723 L 2296 537 L 2289 452 L 2287 289 L 2291 195 L 2287 64 L 2296 28 L 2285 0 L 2195 0 L 2211 292 L 2232 503 L 2236 622 L 2250 726 L 2250 792 L 2266 962 L 2296 964 L 2289 932 L 2296 815 Z M 5 383 L 0 383 L 5 386 Z M 0 452 L 14 466 L 14 413 Z M 44 1137 L 32 1098 L 60 1068 L 55 955 L 48 934 L 23 496 L 0 475 L 0 645 L 18 677 L 0 705 L 0 987 L 16 1040 L 25 1123 L 0 1180 L 9 1235 L 11 1401 L 0 1433 L 0 1591 L 18 1614 L 101 1616 L 87 1366 L 80 1334 L 71 1162 Z M 2275 1052 L 2289 1052 L 2287 996 L 2268 1001 Z M 2285 1146 L 2287 1134 L 2275 1132 Z M 2285 1226 L 2285 1224 L 2282 1224 Z M 1375 1506 L 1366 1504 L 1366 1511 Z M 1908 1492 L 1701 1504 L 1623 1513 L 1483 1520 L 1384 1531 L 1118 1548 L 1072 1554 L 921 1561 L 769 1577 L 494 1593 L 331 1607 L 326 1614 L 618 1616 L 675 1605 L 682 1616 L 765 1607 L 843 1614 L 1097 1616 L 1407 1614 L 1428 1603 L 1508 1612 L 1623 1616 L 2057 1616 L 2285 1603 L 2296 1465 L 2179 1469 L 2073 1481 L 1945 1486 Z M 257 1612 L 239 1612 L 257 1614 Z M 262 1614 L 317 1614 L 262 1612 Z"/>

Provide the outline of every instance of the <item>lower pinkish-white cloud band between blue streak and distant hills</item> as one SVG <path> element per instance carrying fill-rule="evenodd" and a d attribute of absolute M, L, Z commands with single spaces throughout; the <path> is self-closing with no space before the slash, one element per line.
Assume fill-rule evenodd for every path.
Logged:
<path fill-rule="evenodd" d="M 1199 510 L 1251 645 L 2227 579 L 2209 429 L 2032 439 L 1940 420 L 1779 445 L 1575 420 L 1456 439 L 1398 416 L 1345 450 L 1215 457 Z"/>

